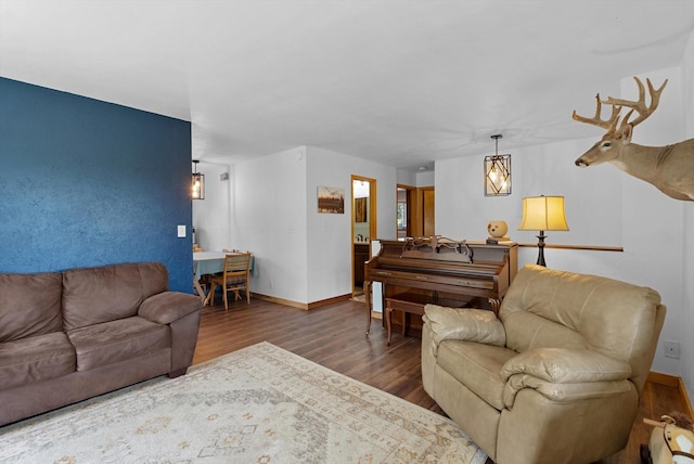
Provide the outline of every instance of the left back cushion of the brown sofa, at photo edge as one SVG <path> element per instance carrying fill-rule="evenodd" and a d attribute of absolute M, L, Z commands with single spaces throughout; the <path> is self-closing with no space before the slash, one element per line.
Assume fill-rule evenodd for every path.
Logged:
<path fill-rule="evenodd" d="M 60 272 L 0 274 L 0 341 L 63 331 Z"/>

